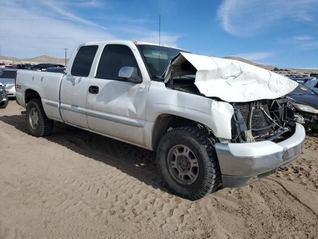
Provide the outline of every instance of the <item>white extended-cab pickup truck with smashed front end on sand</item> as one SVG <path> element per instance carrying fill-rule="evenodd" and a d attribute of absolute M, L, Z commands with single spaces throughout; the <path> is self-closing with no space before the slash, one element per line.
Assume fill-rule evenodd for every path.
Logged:
<path fill-rule="evenodd" d="M 54 120 L 157 151 L 171 192 L 240 187 L 297 158 L 297 83 L 239 61 L 137 41 L 80 44 L 65 74 L 18 71 L 16 101 L 36 137 Z"/>

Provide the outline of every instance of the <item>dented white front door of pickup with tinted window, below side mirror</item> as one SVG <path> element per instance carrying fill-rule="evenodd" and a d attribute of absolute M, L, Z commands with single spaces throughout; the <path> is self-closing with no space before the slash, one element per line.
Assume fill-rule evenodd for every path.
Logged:
<path fill-rule="evenodd" d="M 108 44 L 103 48 L 88 86 L 98 88 L 98 92 L 88 91 L 87 122 L 94 131 L 144 145 L 150 79 L 144 77 L 142 83 L 136 84 L 118 77 L 124 66 L 136 67 L 139 77 L 143 77 L 139 67 L 142 60 L 136 51 L 127 45 Z"/>

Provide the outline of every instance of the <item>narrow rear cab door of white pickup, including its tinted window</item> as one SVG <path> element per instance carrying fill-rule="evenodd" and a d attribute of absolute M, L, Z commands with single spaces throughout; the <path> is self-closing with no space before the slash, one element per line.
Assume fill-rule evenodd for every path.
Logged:
<path fill-rule="evenodd" d="M 81 46 L 74 58 L 71 72 L 66 71 L 61 85 L 61 113 L 65 122 L 88 128 L 86 97 L 89 76 L 97 45 Z"/>

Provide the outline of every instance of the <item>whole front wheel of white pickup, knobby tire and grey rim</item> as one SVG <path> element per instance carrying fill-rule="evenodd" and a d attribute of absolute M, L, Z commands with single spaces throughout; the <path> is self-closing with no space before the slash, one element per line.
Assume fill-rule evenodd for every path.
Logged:
<path fill-rule="evenodd" d="M 157 165 L 170 191 L 189 200 L 215 192 L 221 182 L 214 145 L 197 127 L 179 127 L 163 135 Z"/>

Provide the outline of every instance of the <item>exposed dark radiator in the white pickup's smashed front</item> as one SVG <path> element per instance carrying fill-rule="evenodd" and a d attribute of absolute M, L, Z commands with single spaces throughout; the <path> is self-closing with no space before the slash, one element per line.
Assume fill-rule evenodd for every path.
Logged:
<path fill-rule="evenodd" d="M 250 104 L 255 105 L 255 103 L 250 103 Z M 258 102 L 258 104 L 259 106 L 262 106 L 266 114 L 269 115 L 267 103 Z M 249 103 L 237 103 L 236 107 L 240 111 L 244 119 L 244 122 L 247 124 L 249 109 L 250 109 Z M 270 124 L 271 124 L 271 121 L 264 115 L 261 109 L 256 108 L 252 110 L 251 129 L 252 129 L 252 135 L 254 137 L 271 132 L 273 128 L 269 127 Z M 261 129 L 261 128 L 264 128 L 264 129 Z"/>

